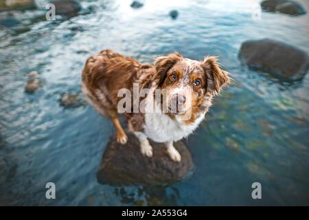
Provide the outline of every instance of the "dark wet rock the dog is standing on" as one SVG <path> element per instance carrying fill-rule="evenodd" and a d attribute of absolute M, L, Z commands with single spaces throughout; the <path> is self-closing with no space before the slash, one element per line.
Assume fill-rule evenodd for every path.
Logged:
<path fill-rule="evenodd" d="M 183 142 L 174 146 L 181 154 L 180 163 L 172 162 L 163 144 L 151 142 L 153 157 L 139 152 L 139 140 L 128 133 L 128 143 L 118 144 L 112 137 L 102 157 L 97 178 L 101 184 L 112 186 L 171 184 L 189 177 L 194 170 L 192 157 Z"/>

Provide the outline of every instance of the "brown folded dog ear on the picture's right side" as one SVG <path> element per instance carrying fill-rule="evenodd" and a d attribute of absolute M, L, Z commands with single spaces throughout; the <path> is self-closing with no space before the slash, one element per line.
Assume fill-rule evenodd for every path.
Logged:
<path fill-rule="evenodd" d="M 207 56 L 204 58 L 202 67 L 207 76 L 207 89 L 215 95 L 220 93 L 222 87 L 230 83 L 229 73 L 220 69 L 216 56 Z"/>

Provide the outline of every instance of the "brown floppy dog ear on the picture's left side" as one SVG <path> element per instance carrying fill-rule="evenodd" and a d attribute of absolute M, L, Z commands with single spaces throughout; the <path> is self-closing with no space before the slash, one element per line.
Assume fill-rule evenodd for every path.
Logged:
<path fill-rule="evenodd" d="M 155 59 L 155 80 L 158 82 L 159 87 L 163 84 L 165 76 L 168 73 L 168 69 L 170 69 L 178 61 L 181 61 L 182 58 L 183 56 L 181 56 L 181 54 L 174 52 L 168 56 L 159 56 Z"/>

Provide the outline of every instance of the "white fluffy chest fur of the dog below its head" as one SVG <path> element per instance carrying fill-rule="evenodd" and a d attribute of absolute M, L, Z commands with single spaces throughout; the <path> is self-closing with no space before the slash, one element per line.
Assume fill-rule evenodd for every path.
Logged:
<path fill-rule="evenodd" d="M 153 99 L 149 98 L 146 102 L 153 103 Z M 172 120 L 165 113 L 149 111 L 146 107 L 144 131 L 147 137 L 155 142 L 181 140 L 197 128 L 204 119 L 205 113 L 206 111 L 201 113 L 192 124 L 185 124 L 183 121 Z"/>

